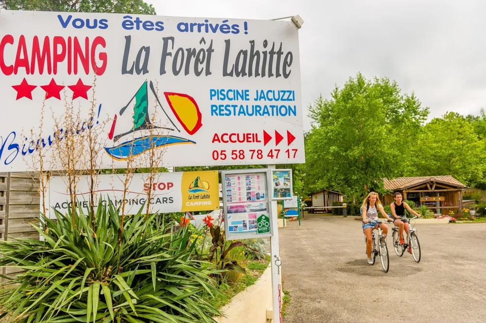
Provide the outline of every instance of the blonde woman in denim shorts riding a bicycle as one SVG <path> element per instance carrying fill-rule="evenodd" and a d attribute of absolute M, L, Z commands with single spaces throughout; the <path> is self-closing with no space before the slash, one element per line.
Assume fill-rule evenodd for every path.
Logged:
<path fill-rule="evenodd" d="M 361 206 L 363 214 L 363 231 L 366 235 L 366 255 L 368 255 L 368 264 L 373 264 L 373 259 L 371 259 L 371 242 L 372 242 L 372 232 L 373 228 L 378 229 L 378 210 L 382 213 L 383 217 L 390 220 L 388 214 L 383 210 L 383 205 L 378 198 L 378 193 L 369 192 L 368 196 L 363 201 Z M 380 224 L 382 228 L 382 235 L 386 237 L 388 234 L 388 226 L 385 223 Z"/>

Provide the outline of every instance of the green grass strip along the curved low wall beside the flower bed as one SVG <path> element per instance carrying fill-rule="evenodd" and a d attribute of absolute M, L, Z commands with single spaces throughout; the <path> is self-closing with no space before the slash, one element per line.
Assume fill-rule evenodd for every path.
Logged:
<path fill-rule="evenodd" d="M 245 260 L 240 265 L 246 270 L 241 278 L 236 283 L 223 282 L 220 285 L 220 290 L 223 295 L 215 295 L 215 297 L 208 298 L 207 301 L 216 309 L 227 305 L 231 299 L 249 286 L 255 284 L 260 278 L 261 274 L 267 269 L 270 263 L 270 256 L 267 255 L 262 260 Z"/>

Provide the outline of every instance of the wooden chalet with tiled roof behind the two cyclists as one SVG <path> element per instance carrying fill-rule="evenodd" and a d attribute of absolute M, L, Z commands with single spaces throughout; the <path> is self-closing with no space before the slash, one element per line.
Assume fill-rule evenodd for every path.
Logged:
<path fill-rule="evenodd" d="M 399 177 L 392 180 L 383 178 L 384 187 L 390 194 L 380 195 L 382 203 L 390 205 L 394 202 L 393 194 L 400 192 L 403 200 L 414 201 L 416 206 L 427 205 L 431 211 L 438 214 L 448 214 L 453 210 L 461 213 L 462 190 L 464 184 L 452 176 L 422 176 Z"/>

